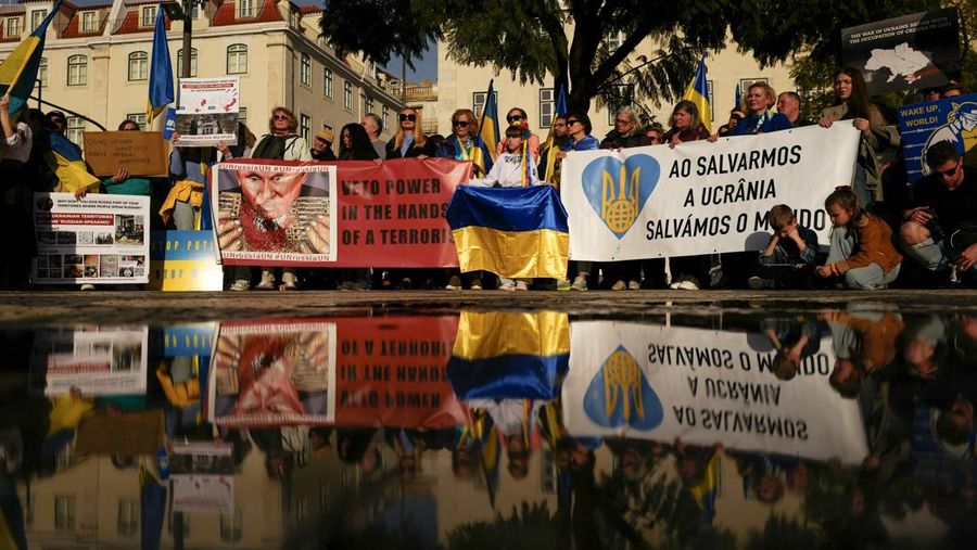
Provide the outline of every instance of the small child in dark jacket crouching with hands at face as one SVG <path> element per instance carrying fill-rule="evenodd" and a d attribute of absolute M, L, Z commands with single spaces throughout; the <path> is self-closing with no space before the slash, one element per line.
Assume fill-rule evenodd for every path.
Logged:
<path fill-rule="evenodd" d="M 813 267 L 817 259 L 817 234 L 799 225 L 794 210 L 786 204 L 770 209 L 773 235 L 766 248 L 760 251 L 750 289 L 810 289 Z"/>

